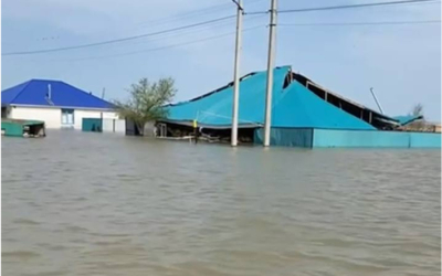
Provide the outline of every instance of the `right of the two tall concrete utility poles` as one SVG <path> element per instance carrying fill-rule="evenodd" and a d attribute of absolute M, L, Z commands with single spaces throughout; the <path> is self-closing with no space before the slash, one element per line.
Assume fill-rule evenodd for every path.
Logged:
<path fill-rule="evenodd" d="M 267 91 L 265 97 L 265 123 L 264 123 L 264 147 L 270 146 L 270 129 L 272 124 L 272 93 L 273 93 L 273 67 L 275 60 L 275 35 L 276 35 L 276 7 L 277 0 L 272 0 L 270 9 L 270 35 L 269 35 L 269 63 L 267 63 Z"/>

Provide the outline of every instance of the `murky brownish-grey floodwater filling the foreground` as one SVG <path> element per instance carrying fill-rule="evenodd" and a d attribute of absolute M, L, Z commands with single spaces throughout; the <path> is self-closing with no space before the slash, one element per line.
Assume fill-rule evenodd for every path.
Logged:
<path fill-rule="evenodd" d="M 3 275 L 440 275 L 439 150 L 1 148 Z"/>

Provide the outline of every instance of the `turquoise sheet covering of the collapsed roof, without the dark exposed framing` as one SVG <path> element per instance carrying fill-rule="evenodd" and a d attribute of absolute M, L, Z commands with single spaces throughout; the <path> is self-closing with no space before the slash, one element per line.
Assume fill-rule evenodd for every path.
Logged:
<path fill-rule="evenodd" d="M 290 66 L 274 70 L 272 127 L 313 127 L 339 129 L 376 129 L 370 124 L 323 100 L 297 81 L 284 86 Z M 240 83 L 239 125 L 264 124 L 266 72 L 257 72 Z M 196 119 L 200 125 L 230 127 L 232 93 L 229 85 L 189 102 L 168 106 L 168 120 L 186 123 Z"/>

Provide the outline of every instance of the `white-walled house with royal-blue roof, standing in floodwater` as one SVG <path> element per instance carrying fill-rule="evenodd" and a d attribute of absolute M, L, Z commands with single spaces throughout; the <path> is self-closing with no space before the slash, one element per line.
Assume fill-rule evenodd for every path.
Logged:
<path fill-rule="evenodd" d="M 1 116 L 43 120 L 46 128 L 82 129 L 83 118 L 117 119 L 114 106 L 60 81 L 31 79 L 1 92 Z"/>

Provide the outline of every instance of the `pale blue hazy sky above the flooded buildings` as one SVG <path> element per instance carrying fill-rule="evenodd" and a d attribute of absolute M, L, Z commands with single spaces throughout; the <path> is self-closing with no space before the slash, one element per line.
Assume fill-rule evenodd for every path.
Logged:
<path fill-rule="evenodd" d="M 386 0 L 280 0 L 278 8 L 380 1 Z M 269 6 L 270 0 L 244 0 L 249 12 L 266 11 Z M 94 43 L 234 13 L 230 0 L 3 0 L 2 52 Z M 440 19 L 440 2 L 280 14 L 276 64 L 292 65 L 322 86 L 372 108 L 376 104 L 369 88 L 375 87 L 391 116 L 407 114 L 422 103 L 427 118 L 440 121 L 440 23 L 282 25 Z M 106 99 L 123 99 L 126 88 L 140 77 L 171 76 L 178 88 L 176 100 L 185 100 L 232 81 L 234 23 L 230 19 L 112 45 L 3 56 L 2 88 L 30 78 L 51 78 L 96 95 L 106 87 Z M 261 28 L 244 32 L 241 74 L 265 70 L 267 23 L 266 14 L 245 17 L 244 29 Z M 213 39 L 224 34 L 229 35 Z M 128 54 L 133 52 L 138 53 Z"/>

